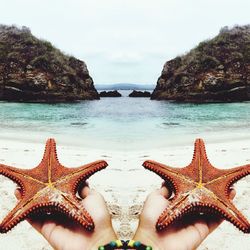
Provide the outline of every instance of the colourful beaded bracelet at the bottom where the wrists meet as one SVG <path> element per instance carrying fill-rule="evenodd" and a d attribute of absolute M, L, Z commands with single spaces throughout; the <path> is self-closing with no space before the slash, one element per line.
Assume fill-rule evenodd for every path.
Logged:
<path fill-rule="evenodd" d="M 104 246 L 99 246 L 98 250 L 114 250 L 114 249 L 136 249 L 136 250 L 152 250 L 151 246 L 146 246 L 142 244 L 140 241 L 134 240 L 115 240 L 110 241 L 108 244 Z"/>

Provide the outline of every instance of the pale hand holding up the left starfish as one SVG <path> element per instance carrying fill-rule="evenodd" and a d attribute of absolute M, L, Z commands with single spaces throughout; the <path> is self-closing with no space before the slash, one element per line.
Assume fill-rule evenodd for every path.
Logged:
<path fill-rule="evenodd" d="M 93 250 L 117 238 L 102 195 L 89 189 L 88 186 L 81 190 L 80 195 L 84 198 L 83 204 L 94 220 L 94 232 L 87 232 L 82 226 L 66 219 L 66 217 L 59 220 L 53 214 L 50 219 L 46 216 L 43 219 L 28 220 L 44 236 L 53 249 Z M 16 191 L 16 196 L 20 196 L 18 191 Z"/>

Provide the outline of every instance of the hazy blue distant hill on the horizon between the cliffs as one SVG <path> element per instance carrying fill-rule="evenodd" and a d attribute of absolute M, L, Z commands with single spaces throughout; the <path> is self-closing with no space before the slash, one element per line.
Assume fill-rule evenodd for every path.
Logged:
<path fill-rule="evenodd" d="M 116 83 L 116 84 L 96 84 L 97 90 L 153 90 L 153 84 L 132 84 L 132 83 Z"/>

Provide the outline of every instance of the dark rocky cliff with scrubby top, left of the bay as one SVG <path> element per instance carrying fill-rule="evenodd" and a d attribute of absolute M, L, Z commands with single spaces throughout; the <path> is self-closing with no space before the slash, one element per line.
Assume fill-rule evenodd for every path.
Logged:
<path fill-rule="evenodd" d="M 99 99 L 86 64 L 64 55 L 27 27 L 0 25 L 0 100 Z"/>

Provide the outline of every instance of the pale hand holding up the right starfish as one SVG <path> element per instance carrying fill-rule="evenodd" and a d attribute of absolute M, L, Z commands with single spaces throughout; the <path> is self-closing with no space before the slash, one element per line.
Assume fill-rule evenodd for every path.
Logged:
<path fill-rule="evenodd" d="M 230 198 L 235 196 L 235 190 Z M 163 232 L 155 230 L 155 224 L 166 208 L 169 201 L 169 192 L 165 186 L 152 192 L 143 207 L 140 222 L 134 240 L 150 245 L 154 250 L 186 250 L 196 249 L 201 242 L 223 221 L 216 217 L 193 218 L 186 223 L 183 219 L 170 225 Z"/>

